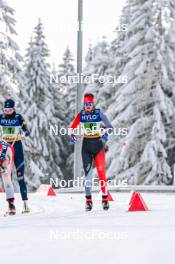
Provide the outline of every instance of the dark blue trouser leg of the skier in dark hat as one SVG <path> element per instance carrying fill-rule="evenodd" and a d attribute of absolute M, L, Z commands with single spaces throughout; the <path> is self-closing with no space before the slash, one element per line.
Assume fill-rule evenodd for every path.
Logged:
<path fill-rule="evenodd" d="M 27 186 L 24 179 L 24 152 L 22 142 L 18 141 L 14 144 L 15 158 L 14 163 L 16 167 L 17 179 L 20 187 L 22 200 L 28 200 Z"/>

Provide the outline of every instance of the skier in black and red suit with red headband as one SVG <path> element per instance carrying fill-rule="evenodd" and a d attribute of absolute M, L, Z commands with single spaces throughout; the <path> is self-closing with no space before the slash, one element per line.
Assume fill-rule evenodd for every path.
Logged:
<path fill-rule="evenodd" d="M 83 99 L 84 107 L 75 117 L 71 128 L 75 129 L 79 124 L 83 129 L 83 145 L 82 145 L 82 160 L 85 173 L 85 195 L 86 195 L 86 210 L 92 209 L 92 168 L 95 163 L 100 186 L 102 191 L 103 209 L 109 209 L 108 194 L 107 194 L 107 179 L 105 166 L 105 149 L 104 143 L 108 140 L 108 133 L 103 135 L 100 133 L 102 128 L 112 129 L 106 115 L 100 109 L 95 108 L 94 95 L 85 94 Z M 74 144 L 77 138 L 72 133 L 69 143 Z"/>

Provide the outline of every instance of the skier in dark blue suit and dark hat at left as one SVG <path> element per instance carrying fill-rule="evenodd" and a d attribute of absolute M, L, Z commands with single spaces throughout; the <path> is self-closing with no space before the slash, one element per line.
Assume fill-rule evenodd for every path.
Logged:
<path fill-rule="evenodd" d="M 0 115 L 0 130 L 2 139 L 11 144 L 14 148 L 14 164 L 21 197 L 24 202 L 23 213 L 27 213 L 30 209 L 27 203 L 27 186 L 24 178 L 25 164 L 21 132 L 23 132 L 25 136 L 29 136 L 30 133 L 24 118 L 16 113 L 15 102 L 12 99 L 8 99 L 4 103 L 3 114 Z"/>

